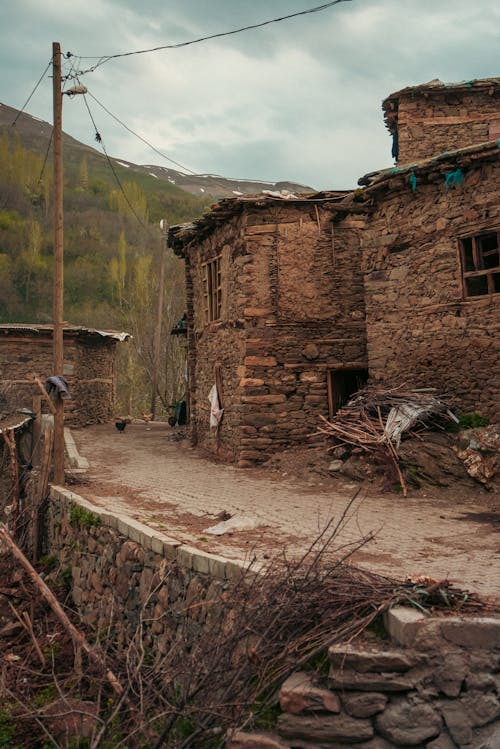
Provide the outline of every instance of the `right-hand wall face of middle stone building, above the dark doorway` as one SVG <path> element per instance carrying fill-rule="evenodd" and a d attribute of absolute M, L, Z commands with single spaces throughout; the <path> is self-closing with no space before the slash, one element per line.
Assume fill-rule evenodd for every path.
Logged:
<path fill-rule="evenodd" d="M 284 205 L 246 216 L 245 359 L 239 465 L 307 443 L 328 414 L 329 368 L 366 366 L 359 233 L 328 209 Z"/>

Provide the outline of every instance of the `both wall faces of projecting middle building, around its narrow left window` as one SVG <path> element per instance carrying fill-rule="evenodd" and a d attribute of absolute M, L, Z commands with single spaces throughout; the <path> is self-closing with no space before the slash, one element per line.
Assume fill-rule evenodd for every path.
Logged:
<path fill-rule="evenodd" d="M 252 206 L 189 251 L 192 430 L 198 444 L 250 466 L 304 442 L 328 413 L 330 367 L 366 366 L 359 235 L 310 204 Z M 222 319 L 205 323 L 202 263 L 222 254 Z M 222 365 L 224 419 L 208 428 Z"/>

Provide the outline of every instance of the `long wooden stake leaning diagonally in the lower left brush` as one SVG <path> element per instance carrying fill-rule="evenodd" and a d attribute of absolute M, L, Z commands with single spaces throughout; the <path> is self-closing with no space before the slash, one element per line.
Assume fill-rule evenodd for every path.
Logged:
<path fill-rule="evenodd" d="M 23 552 L 17 546 L 17 544 L 14 542 L 14 540 L 11 538 L 10 534 L 8 533 L 5 525 L 3 523 L 0 523 L 0 538 L 5 541 L 7 546 L 9 547 L 11 553 L 17 559 L 17 561 L 21 564 L 21 566 L 24 568 L 26 573 L 28 574 L 28 577 L 30 578 L 33 585 L 37 588 L 37 590 L 40 592 L 40 595 L 47 601 L 50 608 L 56 615 L 56 617 L 59 619 L 61 624 L 63 625 L 66 632 L 69 634 L 73 642 L 77 647 L 81 647 L 82 650 L 87 654 L 89 659 L 92 661 L 92 663 L 97 666 L 101 671 L 104 671 L 104 675 L 106 677 L 106 680 L 109 682 L 111 687 L 113 688 L 114 692 L 117 695 L 121 695 L 123 693 L 123 687 L 116 678 L 115 674 L 109 670 L 106 669 L 106 666 L 104 665 L 104 656 L 102 653 L 99 653 L 95 648 L 90 645 L 90 643 L 87 642 L 87 639 L 85 636 L 80 632 L 74 624 L 70 622 L 66 614 L 64 613 L 63 609 L 61 608 L 61 604 L 57 600 L 57 598 L 54 596 L 50 588 L 47 586 L 47 584 L 42 580 L 40 575 L 36 572 L 36 570 L 33 569 L 29 561 L 24 556 Z"/>

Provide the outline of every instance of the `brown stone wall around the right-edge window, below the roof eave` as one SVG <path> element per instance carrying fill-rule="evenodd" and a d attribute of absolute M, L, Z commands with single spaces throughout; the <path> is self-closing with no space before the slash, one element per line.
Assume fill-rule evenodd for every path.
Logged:
<path fill-rule="evenodd" d="M 393 180 L 362 238 L 370 377 L 498 420 L 500 295 L 464 299 L 457 239 L 500 226 L 498 159 L 448 191 L 431 178 Z"/>

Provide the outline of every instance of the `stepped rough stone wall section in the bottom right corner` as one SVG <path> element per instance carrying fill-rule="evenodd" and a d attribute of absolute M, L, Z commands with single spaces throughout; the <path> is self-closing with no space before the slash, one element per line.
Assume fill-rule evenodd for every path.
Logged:
<path fill-rule="evenodd" d="M 276 730 L 226 749 L 498 749 L 500 619 L 389 612 L 392 641 L 335 645 L 327 677 L 283 684 Z"/>

